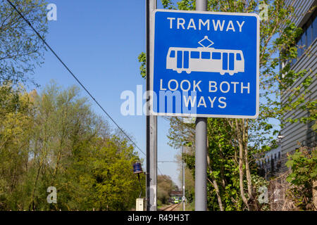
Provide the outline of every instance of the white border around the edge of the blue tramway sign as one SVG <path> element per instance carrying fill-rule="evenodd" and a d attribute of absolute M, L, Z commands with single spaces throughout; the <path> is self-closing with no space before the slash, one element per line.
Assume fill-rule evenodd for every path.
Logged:
<path fill-rule="evenodd" d="M 155 37 L 155 14 L 156 12 L 168 12 L 168 13 L 197 13 L 197 14 L 213 14 L 213 15 L 243 15 L 243 16 L 255 16 L 256 17 L 256 114 L 255 115 L 214 115 L 214 114 L 188 114 L 188 113 L 155 113 L 153 111 L 153 96 L 151 96 L 154 90 L 154 37 Z M 256 119 L 259 117 L 259 70 L 260 70 L 260 18 L 256 13 L 223 13 L 223 12 L 209 12 L 209 11 L 182 11 L 182 10 L 167 10 L 156 9 L 151 12 L 151 24 L 150 24 L 150 109 L 151 115 L 159 116 L 174 116 L 174 117 L 215 117 L 215 118 L 237 118 L 237 119 Z"/>

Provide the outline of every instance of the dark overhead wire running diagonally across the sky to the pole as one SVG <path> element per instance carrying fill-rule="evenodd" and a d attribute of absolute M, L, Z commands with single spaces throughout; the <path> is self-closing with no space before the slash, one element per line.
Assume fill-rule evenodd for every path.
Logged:
<path fill-rule="evenodd" d="M 130 138 L 130 136 L 128 136 L 128 134 L 125 133 L 125 131 L 123 131 L 123 129 L 116 123 L 115 120 L 113 120 L 113 118 L 111 117 L 111 115 L 109 115 L 106 110 L 99 104 L 99 102 L 94 98 L 94 96 L 92 96 L 92 94 L 90 94 L 90 92 L 86 89 L 86 87 L 84 86 L 84 84 L 82 84 L 82 82 L 80 82 L 79 79 L 77 79 L 77 77 L 73 74 L 73 72 L 68 68 L 68 66 L 63 62 L 63 60 L 61 60 L 61 58 L 59 58 L 59 56 L 55 53 L 55 51 L 53 49 L 51 49 L 51 46 L 49 46 L 49 44 L 47 44 L 47 42 L 44 40 L 44 38 L 39 34 L 39 32 L 37 32 L 37 30 L 35 30 L 35 28 L 32 26 L 32 24 L 30 23 L 29 20 L 27 20 L 22 13 L 20 13 L 20 11 L 18 11 L 18 8 L 16 8 L 12 2 L 10 0 L 6 0 L 8 1 L 8 4 L 10 4 L 12 6 L 12 8 L 20 15 L 21 18 L 23 18 L 23 20 L 25 20 L 25 22 L 27 23 L 27 25 L 29 25 L 32 30 L 37 34 L 37 37 L 39 37 L 39 39 L 41 39 L 43 41 L 43 43 L 49 48 L 49 50 L 51 51 L 51 53 L 54 54 L 54 56 L 56 56 L 56 58 L 61 62 L 61 64 L 66 68 L 66 70 L 68 70 L 68 72 L 70 73 L 70 75 L 73 76 L 73 78 L 76 80 L 76 82 L 78 84 L 80 84 L 80 86 L 82 86 L 82 88 L 87 92 L 87 94 L 94 100 L 95 103 L 97 103 L 97 105 L 99 106 L 99 108 L 101 108 L 101 110 L 106 113 L 106 115 L 110 118 L 110 120 L 116 124 L 116 126 L 118 127 L 118 129 L 120 129 L 121 132 L 123 132 L 123 134 L 129 139 L 129 141 L 144 155 L 146 155 L 141 148 L 139 148 L 139 146 L 137 146 L 137 144 L 135 143 L 135 141 L 132 141 L 132 139 Z"/>

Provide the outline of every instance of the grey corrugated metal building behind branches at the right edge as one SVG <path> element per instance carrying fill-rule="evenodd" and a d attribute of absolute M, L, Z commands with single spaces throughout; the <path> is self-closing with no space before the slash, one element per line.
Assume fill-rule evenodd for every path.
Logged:
<path fill-rule="evenodd" d="M 308 75 L 313 75 L 313 82 L 309 86 L 310 94 L 305 98 L 306 101 L 316 100 L 316 71 L 317 71 L 317 0 L 287 0 L 287 4 L 292 4 L 294 6 L 295 16 L 292 17 L 292 22 L 297 25 L 297 27 L 302 27 L 304 31 L 302 36 L 299 37 L 297 46 L 302 46 L 298 48 L 297 60 L 292 63 L 292 70 L 299 72 L 301 70 L 308 70 L 308 74 L 301 79 L 297 80 L 293 84 L 298 86 Z M 304 91 L 304 90 L 302 90 Z M 285 103 L 285 98 L 289 94 L 282 95 L 282 103 Z M 286 113 L 283 120 L 289 118 L 295 119 L 309 115 L 308 110 L 295 110 L 290 113 Z M 281 153 L 282 158 L 286 160 L 287 153 L 293 152 L 300 146 L 316 146 L 316 132 L 311 129 L 314 122 L 309 122 L 307 124 L 302 123 L 287 123 L 280 131 L 282 136 L 281 140 Z M 284 163 L 283 163 L 284 164 Z"/>

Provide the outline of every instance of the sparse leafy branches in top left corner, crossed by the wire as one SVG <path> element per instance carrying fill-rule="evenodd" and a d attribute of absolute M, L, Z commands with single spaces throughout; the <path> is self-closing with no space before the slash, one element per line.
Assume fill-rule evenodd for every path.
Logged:
<path fill-rule="evenodd" d="M 20 12 L 44 37 L 47 32 L 44 0 L 14 0 Z M 0 1 L 0 84 L 25 82 L 43 59 L 44 44 L 7 1 Z"/>

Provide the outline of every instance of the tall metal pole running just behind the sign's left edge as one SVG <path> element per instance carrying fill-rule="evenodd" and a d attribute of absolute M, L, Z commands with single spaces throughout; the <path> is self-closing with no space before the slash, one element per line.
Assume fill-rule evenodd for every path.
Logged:
<path fill-rule="evenodd" d="M 157 117 L 149 114 L 149 91 L 151 86 L 151 32 L 153 29 L 151 12 L 156 9 L 156 0 L 146 0 L 147 5 L 147 211 L 156 211 L 156 176 L 157 176 Z"/>

